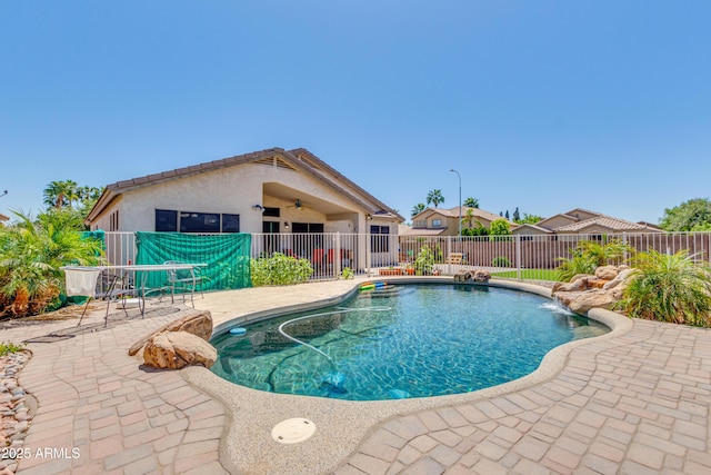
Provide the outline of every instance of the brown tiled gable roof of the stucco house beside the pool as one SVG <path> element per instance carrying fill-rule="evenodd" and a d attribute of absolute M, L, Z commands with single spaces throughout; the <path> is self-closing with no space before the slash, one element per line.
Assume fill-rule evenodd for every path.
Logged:
<path fill-rule="evenodd" d="M 209 171 L 214 171 L 223 168 L 229 168 L 238 165 L 259 162 L 264 160 L 271 160 L 278 157 L 283 166 L 292 168 L 298 171 L 302 171 L 311 175 L 326 187 L 348 197 L 351 201 L 361 206 L 367 212 L 371 215 L 380 212 L 390 212 L 399 220 L 404 220 L 394 209 L 390 208 L 374 196 L 356 185 L 346 176 L 333 169 L 323 160 L 318 158 L 304 148 L 298 148 L 293 150 L 284 150 L 282 148 L 270 148 L 260 151 L 253 151 L 251 154 L 238 155 L 234 157 L 223 158 L 220 160 L 207 161 L 203 164 L 193 165 L 190 167 L 177 168 L 174 170 L 162 171 L 159 174 L 147 175 L 144 177 L 132 178 L 129 180 L 117 181 L 116 184 L 106 187 L 101 197 L 91 209 L 87 217 L 87 224 L 96 219 L 101 211 L 109 206 L 114 199 L 126 191 L 177 180 L 180 178 L 187 178 L 193 175 L 200 175 Z M 339 182 L 342 182 L 356 190 L 356 194 L 351 194 L 346 190 Z"/>

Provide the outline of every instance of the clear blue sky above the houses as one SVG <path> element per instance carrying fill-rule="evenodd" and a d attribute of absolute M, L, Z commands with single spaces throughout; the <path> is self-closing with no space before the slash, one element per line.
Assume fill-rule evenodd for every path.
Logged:
<path fill-rule="evenodd" d="M 0 0 L 0 212 L 304 147 L 410 216 L 709 198 L 711 2 Z"/>

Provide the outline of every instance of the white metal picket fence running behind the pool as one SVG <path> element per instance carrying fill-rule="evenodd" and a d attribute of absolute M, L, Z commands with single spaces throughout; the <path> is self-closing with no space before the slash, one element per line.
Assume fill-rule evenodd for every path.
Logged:
<path fill-rule="evenodd" d="M 133 232 L 106 232 L 107 259 L 111 264 L 136 263 Z M 253 258 L 283 253 L 309 259 L 313 279 L 334 279 L 348 267 L 356 274 L 392 274 L 414 264 L 422 248 L 434 255 L 434 268 L 442 274 L 483 267 L 495 277 L 511 279 L 553 279 L 561 258 L 581 241 L 601 244 L 617 240 L 637 251 L 664 254 L 688 249 L 711 264 L 711 232 L 650 232 L 619 235 L 482 236 L 432 237 L 369 234 L 253 234 Z M 404 270 L 403 270 L 404 273 Z"/>

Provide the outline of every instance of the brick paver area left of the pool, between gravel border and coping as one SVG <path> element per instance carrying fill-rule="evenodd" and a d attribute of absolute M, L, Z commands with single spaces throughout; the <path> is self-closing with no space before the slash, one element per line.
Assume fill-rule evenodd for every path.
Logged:
<path fill-rule="evenodd" d="M 128 347 L 176 314 L 71 338 L 30 338 L 21 385 L 39 402 L 21 474 L 220 474 L 222 405 L 178 372 L 140 367 Z M 18 340 L 72 321 L 3 331 Z M 39 452 L 38 452 L 39 451 Z M 48 451 L 48 452 L 46 452 Z M 52 451 L 52 452 L 49 452 Z"/>

